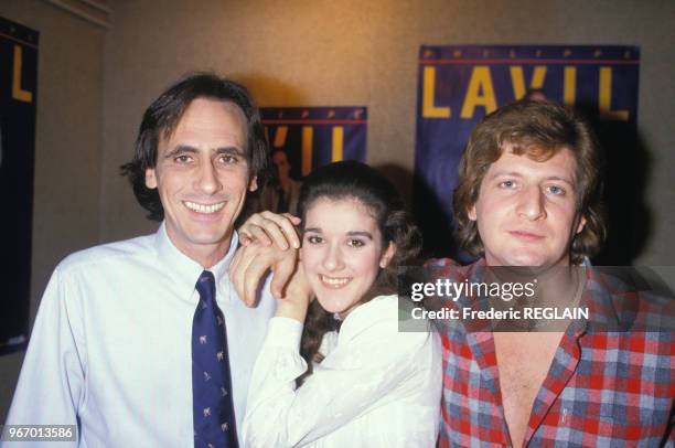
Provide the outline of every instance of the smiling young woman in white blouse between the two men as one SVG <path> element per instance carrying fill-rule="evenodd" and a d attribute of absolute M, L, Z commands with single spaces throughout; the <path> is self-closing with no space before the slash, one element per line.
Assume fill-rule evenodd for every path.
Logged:
<path fill-rule="evenodd" d="M 299 212 L 300 262 L 253 372 L 245 445 L 436 446 L 440 346 L 428 327 L 398 329 L 396 273 L 420 236 L 396 189 L 336 162 L 306 180 Z"/>

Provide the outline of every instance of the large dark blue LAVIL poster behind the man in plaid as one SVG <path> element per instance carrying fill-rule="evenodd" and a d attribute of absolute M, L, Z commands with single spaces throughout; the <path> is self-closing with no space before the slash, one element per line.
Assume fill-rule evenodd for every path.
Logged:
<path fill-rule="evenodd" d="M 622 177 L 639 181 L 644 156 L 636 138 L 640 50 L 617 45 L 422 45 L 418 60 L 415 205 L 429 255 L 465 258 L 453 245 L 452 192 L 462 152 L 486 114 L 526 94 L 562 103 L 585 115 L 608 153 L 606 191 L 613 228 L 606 253 L 628 263 L 638 249 L 620 242 L 638 230 L 641 193 L 626 191 Z M 625 177 L 623 179 L 626 179 Z M 429 213 L 429 211 L 435 211 Z M 628 221 L 626 221 L 628 220 Z M 625 242 L 625 239 L 623 239 Z"/>

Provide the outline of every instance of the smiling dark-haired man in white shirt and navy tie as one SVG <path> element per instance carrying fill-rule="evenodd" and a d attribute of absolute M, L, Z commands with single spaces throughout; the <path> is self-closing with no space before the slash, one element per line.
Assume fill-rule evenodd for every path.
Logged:
<path fill-rule="evenodd" d="M 274 300 L 246 308 L 227 267 L 266 162 L 242 85 L 195 74 L 150 105 L 122 172 L 159 231 L 56 267 L 8 424 L 76 425 L 83 447 L 237 446 Z"/>

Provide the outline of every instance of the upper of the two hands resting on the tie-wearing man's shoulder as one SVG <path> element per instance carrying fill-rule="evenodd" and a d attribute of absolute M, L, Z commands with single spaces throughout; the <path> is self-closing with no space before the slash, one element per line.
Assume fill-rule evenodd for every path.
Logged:
<path fill-rule="evenodd" d="M 299 224 L 300 218 L 290 213 L 277 214 L 265 211 L 250 215 L 237 233 L 243 246 L 248 246 L 255 241 L 264 246 L 271 246 L 274 242 L 281 250 L 287 250 L 289 247 L 300 247 L 300 238 L 294 227 Z"/>

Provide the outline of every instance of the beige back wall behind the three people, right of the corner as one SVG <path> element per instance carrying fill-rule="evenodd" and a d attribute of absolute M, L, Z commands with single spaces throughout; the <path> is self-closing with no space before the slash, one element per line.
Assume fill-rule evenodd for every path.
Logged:
<path fill-rule="evenodd" d="M 365 105 L 368 161 L 411 170 L 420 44 L 636 44 L 653 233 L 636 263 L 673 264 L 675 3 L 667 1 L 118 1 L 106 40 L 100 236 L 149 232 L 117 167 L 148 103 L 188 71 L 245 82 L 264 106 Z M 610 148 L 611 150 L 611 148 Z M 403 185 L 409 190 L 410 185 Z M 409 194 L 406 194 L 409 195 Z"/>

